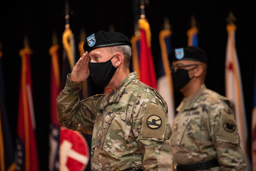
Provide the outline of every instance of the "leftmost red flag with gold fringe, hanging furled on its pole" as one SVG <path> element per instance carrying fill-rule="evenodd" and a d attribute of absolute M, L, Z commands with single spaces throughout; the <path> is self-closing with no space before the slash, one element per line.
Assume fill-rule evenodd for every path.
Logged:
<path fill-rule="evenodd" d="M 31 53 L 29 47 L 20 50 L 22 64 L 16 140 L 16 164 L 20 171 L 39 171 L 29 59 Z"/>

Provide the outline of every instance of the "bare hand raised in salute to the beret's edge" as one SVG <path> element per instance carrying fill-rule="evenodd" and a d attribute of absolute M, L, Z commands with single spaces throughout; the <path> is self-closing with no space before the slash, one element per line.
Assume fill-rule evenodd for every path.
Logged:
<path fill-rule="evenodd" d="M 70 80 L 72 82 L 81 82 L 86 80 L 89 75 L 89 56 L 88 56 L 88 51 L 86 51 L 82 57 L 79 58 L 77 61 L 76 65 L 74 66 L 71 75 L 70 75 Z"/>

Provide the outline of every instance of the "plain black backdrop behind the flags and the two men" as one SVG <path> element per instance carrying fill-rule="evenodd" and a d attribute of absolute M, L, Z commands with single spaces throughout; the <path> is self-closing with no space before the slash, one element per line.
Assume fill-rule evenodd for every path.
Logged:
<path fill-rule="evenodd" d="M 108 31 L 110 25 L 115 26 L 115 31 L 131 38 L 134 34 L 134 23 L 140 15 L 139 4 L 138 0 L 70 1 L 69 22 L 76 44 L 80 41 L 80 29 L 84 29 L 89 36 L 99 30 Z M 151 44 L 155 70 L 158 69 L 160 57 L 158 36 L 159 31 L 163 29 L 164 17 L 168 17 L 172 25 L 172 47 L 182 47 L 187 46 L 186 31 L 191 27 L 191 15 L 194 15 L 199 28 L 199 47 L 206 51 L 209 59 L 206 86 L 222 95 L 225 95 L 226 18 L 229 11 L 233 12 L 236 17 L 236 50 L 240 63 L 250 141 L 256 47 L 254 26 L 256 10 L 253 1 L 151 0 L 145 3 L 145 6 L 146 18 L 152 33 Z M 53 32 L 56 32 L 58 43 L 62 46 L 65 22 L 64 0 L 0 2 L 0 42 L 3 52 L 4 85 L 7 113 L 14 138 L 20 86 L 19 50 L 24 47 L 26 36 L 33 50 L 31 70 L 41 170 L 48 170 L 51 59 L 49 48 L 52 45 Z M 77 54 L 79 58 L 79 53 Z M 102 89 L 96 91 L 101 92 Z M 180 96 L 176 92 L 176 103 L 181 99 Z"/>

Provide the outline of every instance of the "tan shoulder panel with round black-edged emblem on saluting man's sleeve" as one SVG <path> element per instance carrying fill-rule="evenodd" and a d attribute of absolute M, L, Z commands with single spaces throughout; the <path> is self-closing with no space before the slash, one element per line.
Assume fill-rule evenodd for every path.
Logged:
<path fill-rule="evenodd" d="M 145 103 L 142 112 L 142 137 L 163 139 L 166 124 L 164 110 L 156 104 Z"/>

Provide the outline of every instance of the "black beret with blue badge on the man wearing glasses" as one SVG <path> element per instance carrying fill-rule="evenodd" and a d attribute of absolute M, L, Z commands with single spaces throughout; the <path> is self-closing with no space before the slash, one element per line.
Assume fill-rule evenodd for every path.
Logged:
<path fill-rule="evenodd" d="M 206 64 L 208 62 L 207 55 L 204 50 L 196 46 L 175 48 L 169 53 L 168 59 L 170 62 L 179 60 L 200 61 Z"/>

